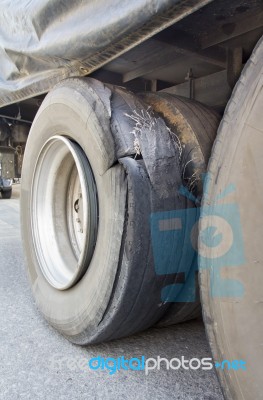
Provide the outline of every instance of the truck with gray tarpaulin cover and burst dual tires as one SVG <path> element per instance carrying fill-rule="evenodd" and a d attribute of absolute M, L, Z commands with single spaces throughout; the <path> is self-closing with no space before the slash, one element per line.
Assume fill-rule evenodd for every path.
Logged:
<path fill-rule="evenodd" d="M 97 343 L 200 315 L 200 289 L 215 361 L 248 365 L 224 395 L 262 398 L 262 0 L 5 1 L 0 30 L 45 318 Z"/>

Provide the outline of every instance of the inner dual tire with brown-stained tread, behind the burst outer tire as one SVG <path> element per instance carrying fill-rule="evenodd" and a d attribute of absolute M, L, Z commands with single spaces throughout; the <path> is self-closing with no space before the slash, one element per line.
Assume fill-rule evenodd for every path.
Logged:
<path fill-rule="evenodd" d="M 180 163 L 182 182 L 189 194 L 195 198 L 194 206 L 200 207 L 203 194 L 203 174 L 207 170 L 220 122 L 219 114 L 197 101 L 164 92 L 142 93 L 140 98 L 157 112 L 169 129 L 177 135 L 182 146 Z M 197 263 L 196 257 L 192 266 L 192 273 L 196 273 L 196 275 Z M 192 278 L 192 276 L 188 277 L 188 279 Z M 158 322 L 158 326 L 169 326 L 201 316 L 197 276 L 195 293 L 194 300 L 171 303 Z"/>

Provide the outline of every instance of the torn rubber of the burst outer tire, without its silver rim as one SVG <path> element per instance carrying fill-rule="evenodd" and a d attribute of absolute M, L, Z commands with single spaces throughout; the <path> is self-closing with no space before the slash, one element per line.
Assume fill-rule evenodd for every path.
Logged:
<path fill-rule="evenodd" d="M 142 127 L 140 136 L 144 160 L 135 160 L 134 136 L 125 128 L 127 121 L 132 122 L 132 128 L 135 123 L 124 116 L 123 108 L 134 111 L 129 101 L 137 100 L 132 94 L 127 97 L 129 101 L 118 96 L 117 89 L 111 91 L 93 79 L 72 78 L 57 85 L 35 117 L 23 163 L 21 228 L 33 295 L 47 321 L 77 344 L 126 336 L 161 318 L 167 305 L 160 293 L 170 276 L 158 277 L 155 273 L 150 215 L 187 203 L 174 194 L 181 182 L 178 154 L 171 141 L 160 140 L 163 132 L 167 133 L 164 122 L 149 116 L 159 143 L 157 168 L 151 151 L 153 132 L 147 126 Z M 138 107 L 138 112 L 147 109 L 141 102 Z M 50 137 L 60 134 L 84 150 L 99 202 L 93 258 L 82 279 L 63 291 L 45 280 L 31 229 L 31 182 L 38 154 Z M 168 162 L 167 152 L 171 156 Z M 166 174 L 167 170 L 173 173 Z"/>

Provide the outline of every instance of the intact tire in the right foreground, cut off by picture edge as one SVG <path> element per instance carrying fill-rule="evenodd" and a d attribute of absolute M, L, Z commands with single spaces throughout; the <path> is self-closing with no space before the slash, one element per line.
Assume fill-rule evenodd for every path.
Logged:
<path fill-rule="evenodd" d="M 219 127 L 200 219 L 204 322 L 224 395 L 236 400 L 262 398 L 262 108 L 263 38 Z"/>

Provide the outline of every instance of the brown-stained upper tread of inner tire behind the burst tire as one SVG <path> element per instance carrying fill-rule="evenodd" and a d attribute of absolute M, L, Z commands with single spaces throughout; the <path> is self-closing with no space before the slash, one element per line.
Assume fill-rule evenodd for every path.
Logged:
<path fill-rule="evenodd" d="M 141 93 L 140 98 L 164 119 L 179 139 L 182 181 L 199 203 L 203 194 L 202 174 L 207 170 L 220 115 L 198 101 L 165 92 Z"/>

